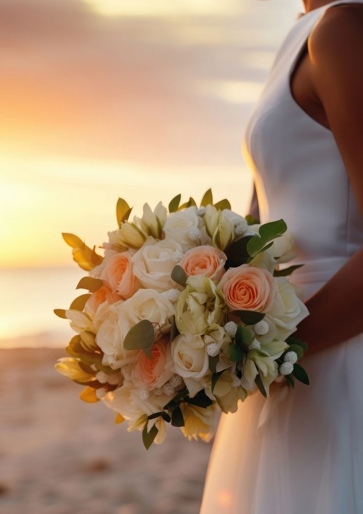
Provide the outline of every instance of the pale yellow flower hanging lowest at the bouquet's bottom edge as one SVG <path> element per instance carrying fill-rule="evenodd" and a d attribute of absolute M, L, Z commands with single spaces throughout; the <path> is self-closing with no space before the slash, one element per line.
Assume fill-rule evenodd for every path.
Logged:
<path fill-rule="evenodd" d="M 180 408 L 183 413 L 185 426 L 181 427 L 184 436 L 190 440 L 198 440 L 200 437 L 205 442 L 212 439 L 214 434 L 214 415 L 215 405 L 211 405 L 206 409 L 190 405 L 189 403 L 181 403 Z"/>

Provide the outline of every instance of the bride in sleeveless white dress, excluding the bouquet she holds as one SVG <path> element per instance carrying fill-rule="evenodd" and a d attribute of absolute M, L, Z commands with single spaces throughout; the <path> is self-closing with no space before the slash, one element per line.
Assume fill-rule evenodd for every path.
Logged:
<path fill-rule="evenodd" d="M 201 514 L 363 513 L 363 0 L 305 8 L 243 147 L 261 221 L 283 217 L 305 264 L 311 386 L 222 415 Z"/>

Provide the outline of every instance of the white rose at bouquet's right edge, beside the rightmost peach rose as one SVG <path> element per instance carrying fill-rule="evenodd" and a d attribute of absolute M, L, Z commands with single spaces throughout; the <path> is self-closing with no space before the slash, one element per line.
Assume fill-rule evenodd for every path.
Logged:
<path fill-rule="evenodd" d="M 295 332 L 296 325 L 309 315 L 309 311 L 287 277 L 277 277 L 275 281 L 278 289 L 268 314 L 276 324 L 277 337 L 285 340 Z"/>

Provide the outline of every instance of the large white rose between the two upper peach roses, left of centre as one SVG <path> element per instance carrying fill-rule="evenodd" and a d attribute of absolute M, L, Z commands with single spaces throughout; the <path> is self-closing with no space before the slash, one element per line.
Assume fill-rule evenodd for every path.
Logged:
<path fill-rule="evenodd" d="M 131 259 L 133 274 L 142 287 L 159 292 L 175 287 L 171 271 L 175 267 L 173 254 L 176 251 L 182 251 L 182 248 L 172 239 L 156 241 L 153 237 L 147 238 Z"/>

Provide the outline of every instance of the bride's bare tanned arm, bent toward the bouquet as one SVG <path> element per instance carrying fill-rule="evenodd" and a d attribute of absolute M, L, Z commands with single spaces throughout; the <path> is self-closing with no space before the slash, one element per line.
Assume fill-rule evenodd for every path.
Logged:
<path fill-rule="evenodd" d="M 329 8 L 309 39 L 318 100 L 363 213 L 363 5 Z M 329 185 L 327 185 L 329 195 Z M 313 353 L 363 332 L 363 248 L 306 302 L 296 335 Z"/>

